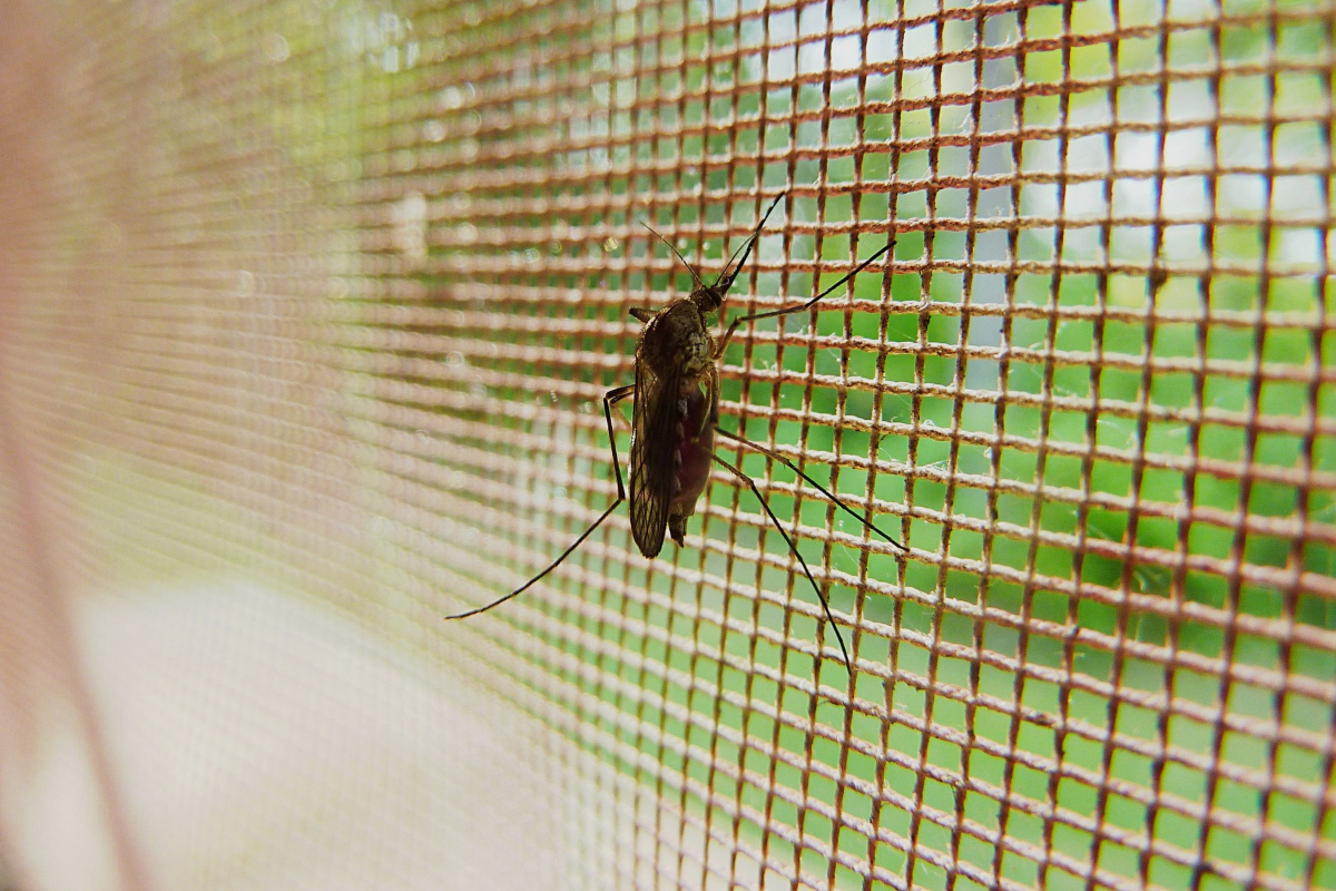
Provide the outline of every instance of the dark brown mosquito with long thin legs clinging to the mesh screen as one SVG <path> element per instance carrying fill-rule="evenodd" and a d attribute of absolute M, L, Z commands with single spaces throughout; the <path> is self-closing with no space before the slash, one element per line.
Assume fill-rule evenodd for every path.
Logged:
<path fill-rule="evenodd" d="M 844 656 L 844 665 L 852 672 L 854 667 L 848 657 L 848 648 L 844 647 L 844 636 L 835 622 L 835 616 L 831 614 L 830 602 L 826 600 L 822 586 L 816 584 L 816 578 L 807 566 L 807 561 L 798 552 L 792 537 L 779 522 L 775 512 L 770 509 L 770 504 L 767 504 L 756 482 L 743 473 L 740 468 L 715 454 L 715 437 L 717 435 L 760 454 L 770 456 L 770 458 L 802 477 L 836 508 L 894 545 L 900 553 L 908 553 L 904 545 L 878 529 L 872 522 L 864 520 L 783 454 L 744 439 L 736 433 L 729 433 L 719 426 L 719 362 L 724 355 L 728 341 L 732 339 L 739 326 L 747 322 L 758 322 L 760 319 L 810 310 L 818 302 L 843 287 L 850 279 L 886 254 L 891 248 L 891 244 L 894 244 L 894 242 L 886 244 L 854 267 L 840 281 L 810 301 L 778 310 L 739 315 L 724 331 L 724 335 L 716 341 L 709 334 L 711 326 L 707 322 L 707 317 L 723 307 L 728 289 L 732 287 L 741 267 L 747 263 L 747 258 L 751 255 L 752 247 L 760 236 L 762 228 L 766 226 L 766 220 L 770 219 L 771 212 L 783 198 L 784 192 L 780 192 L 775 198 L 752 234 L 728 258 L 724 271 L 719 274 L 713 285 L 705 285 L 691 263 L 677 252 L 672 242 L 649 228 L 648 223 L 645 224 L 645 228 L 649 228 L 659 240 L 667 244 L 673 255 L 681 260 L 681 264 L 687 267 L 687 271 L 691 273 L 693 287 L 691 295 L 679 297 L 661 310 L 631 310 L 632 317 L 645 323 L 636 341 L 636 382 L 628 386 L 613 387 L 603 397 L 603 414 L 608 422 L 608 441 L 612 446 L 612 470 L 617 480 L 617 497 L 560 557 L 553 560 L 537 576 L 485 606 L 446 616 L 446 618 L 477 616 L 494 606 L 500 606 L 513 597 L 518 597 L 549 572 L 560 566 L 627 500 L 627 488 L 623 485 L 621 478 L 621 462 L 617 460 L 617 437 L 612 429 L 612 406 L 629 397 L 633 401 L 629 486 L 631 534 L 640 553 L 649 558 L 656 557 L 663 549 L 665 532 L 677 545 L 684 544 L 687 518 L 696 512 L 696 501 L 709 481 L 709 462 L 719 464 L 752 490 L 752 494 L 756 496 L 760 506 L 766 510 L 766 516 L 770 517 L 779 534 L 783 536 L 790 552 L 803 568 L 803 574 L 807 576 L 807 581 L 811 582 L 812 589 L 816 592 L 816 597 L 822 602 L 822 609 L 826 612 L 826 618 L 835 631 L 835 639 L 839 641 L 840 652 Z"/>

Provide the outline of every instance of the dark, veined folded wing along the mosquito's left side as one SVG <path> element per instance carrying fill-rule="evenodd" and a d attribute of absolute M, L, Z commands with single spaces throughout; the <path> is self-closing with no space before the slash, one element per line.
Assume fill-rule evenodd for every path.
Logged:
<path fill-rule="evenodd" d="M 677 374 L 655 374 L 636 363 L 636 403 L 631 434 L 631 534 L 645 557 L 664 544 L 672 504 L 673 453 L 677 450 Z"/>

